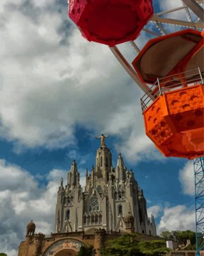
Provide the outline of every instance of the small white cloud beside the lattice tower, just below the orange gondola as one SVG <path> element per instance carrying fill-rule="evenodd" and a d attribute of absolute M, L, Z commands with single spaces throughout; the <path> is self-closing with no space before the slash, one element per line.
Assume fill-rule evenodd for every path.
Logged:
<path fill-rule="evenodd" d="M 179 170 L 179 180 L 185 195 L 194 196 L 194 169 L 192 161 L 188 161 L 182 170 Z"/>

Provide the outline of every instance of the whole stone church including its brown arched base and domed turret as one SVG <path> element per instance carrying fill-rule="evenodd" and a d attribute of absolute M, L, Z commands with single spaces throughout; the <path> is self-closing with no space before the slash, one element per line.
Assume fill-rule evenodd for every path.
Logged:
<path fill-rule="evenodd" d="M 54 233 L 35 234 L 35 223 L 26 228 L 26 239 L 18 256 L 75 256 L 81 246 L 93 246 L 96 256 L 104 243 L 123 232 L 137 232 L 141 239 L 157 239 L 155 221 L 148 218 L 143 190 L 132 170 L 127 170 L 122 154 L 113 167 L 107 136 L 100 136 L 95 167 L 86 170 L 84 191 L 75 160 L 57 193 Z"/>

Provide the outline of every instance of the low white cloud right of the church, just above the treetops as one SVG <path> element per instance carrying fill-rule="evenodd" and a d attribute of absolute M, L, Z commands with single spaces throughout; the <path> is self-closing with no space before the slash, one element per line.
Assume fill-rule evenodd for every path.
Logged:
<path fill-rule="evenodd" d="M 187 208 L 185 205 L 165 207 L 164 215 L 161 218 L 157 230 L 159 234 L 166 230 L 195 230 L 194 205 Z"/>

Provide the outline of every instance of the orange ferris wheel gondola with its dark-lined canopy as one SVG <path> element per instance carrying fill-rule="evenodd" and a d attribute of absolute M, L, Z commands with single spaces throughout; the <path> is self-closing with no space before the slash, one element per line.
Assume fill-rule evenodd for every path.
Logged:
<path fill-rule="evenodd" d="M 132 64 L 143 82 L 153 84 L 156 98 L 150 106 L 142 99 L 147 136 L 165 156 L 203 156 L 201 33 L 187 29 L 150 40 Z"/>

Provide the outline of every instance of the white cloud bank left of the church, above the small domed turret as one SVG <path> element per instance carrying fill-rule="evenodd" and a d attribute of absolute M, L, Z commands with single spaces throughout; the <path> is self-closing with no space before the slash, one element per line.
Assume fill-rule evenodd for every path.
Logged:
<path fill-rule="evenodd" d="M 51 170 L 46 176 L 47 185 L 42 188 L 26 170 L 0 160 L 2 252 L 17 255 L 17 248 L 25 239 L 26 225 L 31 219 L 36 223 L 36 233 L 50 234 L 53 231 L 56 193 L 61 177 L 67 181 L 67 172 Z"/>

